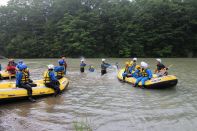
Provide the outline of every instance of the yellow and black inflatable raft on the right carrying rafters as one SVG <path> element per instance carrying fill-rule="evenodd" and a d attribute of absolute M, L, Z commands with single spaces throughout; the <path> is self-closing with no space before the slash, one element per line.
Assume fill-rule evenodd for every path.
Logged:
<path fill-rule="evenodd" d="M 122 73 L 124 72 L 124 69 L 119 70 L 118 72 L 118 79 L 123 81 Z M 134 77 L 126 77 L 125 82 L 128 82 L 130 84 L 135 84 L 136 79 Z M 153 75 L 153 78 L 151 80 L 148 80 L 145 82 L 145 88 L 151 88 L 151 89 L 160 89 L 160 88 L 168 88 L 175 86 L 178 82 L 178 79 L 174 75 L 167 75 L 163 77 L 157 77 L 155 74 Z M 139 83 L 139 87 L 142 87 L 142 83 Z"/>

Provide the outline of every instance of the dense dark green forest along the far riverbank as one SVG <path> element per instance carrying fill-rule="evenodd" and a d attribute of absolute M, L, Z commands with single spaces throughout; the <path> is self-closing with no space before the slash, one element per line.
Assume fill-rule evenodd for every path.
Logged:
<path fill-rule="evenodd" d="M 197 57 L 197 0 L 10 0 L 7 57 Z"/>

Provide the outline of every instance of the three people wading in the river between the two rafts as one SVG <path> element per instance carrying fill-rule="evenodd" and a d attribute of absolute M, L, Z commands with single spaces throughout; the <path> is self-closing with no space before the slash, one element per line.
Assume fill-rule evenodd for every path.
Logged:
<path fill-rule="evenodd" d="M 107 73 L 107 68 L 111 66 L 111 64 L 106 63 L 106 59 L 101 59 L 102 63 L 101 63 L 101 75 L 104 75 Z M 83 73 L 85 71 L 85 67 L 86 67 L 86 63 L 85 63 L 85 59 L 81 59 L 81 63 L 80 63 L 80 72 Z M 95 69 L 92 65 L 89 65 L 89 69 L 90 72 L 94 72 Z"/>

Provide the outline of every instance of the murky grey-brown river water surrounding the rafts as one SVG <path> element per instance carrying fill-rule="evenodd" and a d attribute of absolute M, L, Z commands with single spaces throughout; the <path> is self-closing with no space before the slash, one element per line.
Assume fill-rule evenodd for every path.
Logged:
<path fill-rule="evenodd" d="M 123 66 L 129 59 L 107 59 Z M 155 59 L 139 59 L 150 64 Z M 68 89 L 58 97 L 0 105 L 0 131 L 70 131 L 75 123 L 93 131 L 194 131 L 197 129 L 197 59 L 162 59 L 178 77 L 176 87 L 164 90 L 133 88 L 116 78 L 111 68 L 100 75 L 100 59 L 87 59 L 96 72 L 79 73 L 79 59 L 68 59 Z M 57 59 L 25 59 L 34 80 Z M 0 60 L 3 66 L 6 60 Z M 3 81 L 5 82 L 5 81 Z"/>

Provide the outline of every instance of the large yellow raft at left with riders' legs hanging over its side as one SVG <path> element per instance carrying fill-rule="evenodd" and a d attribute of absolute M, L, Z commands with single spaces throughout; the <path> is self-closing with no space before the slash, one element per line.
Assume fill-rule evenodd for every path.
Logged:
<path fill-rule="evenodd" d="M 63 91 L 68 87 L 69 81 L 67 78 L 63 77 L 59 80 L 60 90 Z M 45 87 L 43 80 L 37 80 L 34 82 L 37 84 L 36 87 L 32 87 L 33 96 L 44 96 L 54 93 L 54 90 L 48 87 Z M 13 82 L 0 83 L 0 102 L 9 99 L 17 99 L 27 97 L 27 90 L 23 88 L 18 88 Z"/>

